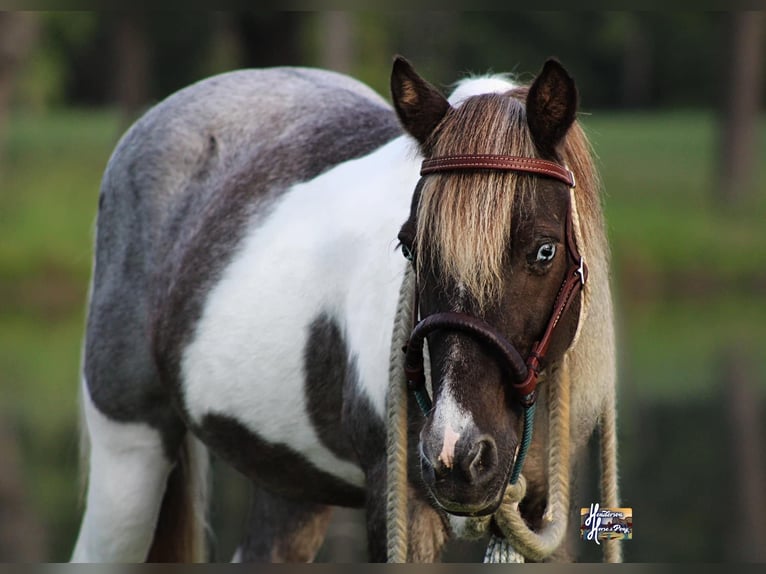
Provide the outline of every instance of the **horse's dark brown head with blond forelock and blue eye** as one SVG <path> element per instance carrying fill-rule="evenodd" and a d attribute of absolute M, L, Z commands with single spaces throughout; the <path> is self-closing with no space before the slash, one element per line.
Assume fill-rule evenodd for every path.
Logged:
<path fill-rule="evenodd" d="M 549 60 L 529 88 L 451 105 L 401 58 L 391 90 L 426 160 L 471 158 L 468 169 L 424 169 L 399 240 L 416 269 L 420 316 L 457 317 L 424 336 L 433 406 L 420 433 L 422 477 L 447 512 L 484 515 L 499 505 L 516 456 L 525 399 L 519 379 L 528 368 L 541 380 L 556 368 L 577 330 L 580 292 L 557 306 L 577 249 L 574 181 L 485 169 L 476 158 L 545 160 L 567 174 L 577 91 Z M 557 309 L 556 328 L 548 329 Z M 459 328 L 461 321 L 479 327 Z M 544 337 L 547 353 L 535 363 Z"/>

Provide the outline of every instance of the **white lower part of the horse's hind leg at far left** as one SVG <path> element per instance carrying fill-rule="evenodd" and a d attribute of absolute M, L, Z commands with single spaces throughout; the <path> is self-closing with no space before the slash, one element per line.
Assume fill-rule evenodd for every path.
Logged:
<path fill-rule="evenodd" d="M 143 562 L 172 468 L 160 433 L 104 416 L 83 381 L 90 437 L 85 516 L 72 562 Z"/>

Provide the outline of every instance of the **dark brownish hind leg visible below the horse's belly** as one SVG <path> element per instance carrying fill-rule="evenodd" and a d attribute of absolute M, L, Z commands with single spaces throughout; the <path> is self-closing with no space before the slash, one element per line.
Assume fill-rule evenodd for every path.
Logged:
<path fill-rule="evenodd" d="M 253 485 L 247 532 L 237 562 L 312 562 L 332 508 L 288 500 Z"/>

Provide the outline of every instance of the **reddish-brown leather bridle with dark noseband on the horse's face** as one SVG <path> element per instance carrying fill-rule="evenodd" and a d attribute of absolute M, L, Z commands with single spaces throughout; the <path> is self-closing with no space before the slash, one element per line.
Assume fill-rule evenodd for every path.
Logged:
<path fill-rule="evenodd" d="M 562 181 L 570 189 L 575 187 L 574 174 L 558 163 L 536 158 L 505 155 L 455 155 L 427 159 L 422 164 L 420 175 L 484 169 L 531 173 Z M 469 335 L 489 348 L 504 370 L 510 375 L 511 386 L 521 404 L 525 409 L 529 409 L 534 405 L 537 399 L 537 378 L 540 375 L 542 363 L 548 352 L 548 346 L 556 332 L 561 317 L 570 307 L 576 295 L 582 290 L 588 277 L 588 268 L 585 265 L 585 260 L 577 249 L 577 241 L 572 225 L 571 199 L 567 209 L 565 225 L 567 254 L 570 265 L 564 274 L 564 280 L 553 303 L 548 324 L 540 339 L 532 345 L 526 360 L 521 356 L 516 347 L 497 329 L 478 317 L 465 313 L 444 312 L 429 315 L 423 320 L 418 321 L 418 287 L 415 287 L 414 327 L 406 347 L 404 370 L 410 389 L 415 393 L 418 404 L 424 413 L 430 410 L 431 401 L 425 392 L 423 342 L 430 333 L 437 330 L 456 331 Z"/>

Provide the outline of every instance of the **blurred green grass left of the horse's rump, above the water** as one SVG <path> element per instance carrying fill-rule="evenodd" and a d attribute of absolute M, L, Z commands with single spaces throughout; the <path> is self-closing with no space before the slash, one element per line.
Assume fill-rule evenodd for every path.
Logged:
<path fill-rule="evenodd" d="M 98 186 L 118 129 L 111 113 L 12 117 L 0 167 L 0 277 L 51 266 L 88 274 Z"/>

